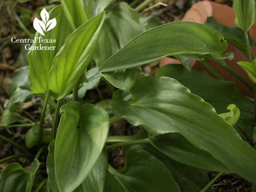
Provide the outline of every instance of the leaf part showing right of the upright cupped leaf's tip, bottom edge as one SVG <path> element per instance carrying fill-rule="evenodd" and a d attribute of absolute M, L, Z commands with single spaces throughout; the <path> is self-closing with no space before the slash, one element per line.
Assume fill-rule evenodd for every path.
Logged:
<path fill-rule="evenodd" d="M 103 192 L 105 178 L 108 166 L 108 155 L 106 148 L 100 154 L 98 161 L 93 166 L 91 172 L 82 182 L 82 184 L 75 189 L 74 192 Z"/>

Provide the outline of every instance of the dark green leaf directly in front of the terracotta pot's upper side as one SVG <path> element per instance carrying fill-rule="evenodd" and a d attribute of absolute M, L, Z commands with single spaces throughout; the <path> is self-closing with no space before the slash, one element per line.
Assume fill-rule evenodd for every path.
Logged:
<path fill-rule="evenodd" d="M 238 27 L 228 27 L 223 25 L 213 17 L 207 17 L 207 20 L 204 24 L 219 31 L 228 43 L 236 46 L 247 58 L 249 58 L 244 31 L 242 29 Z M 256 45 L 256 42 L 250 36 L 249 42 L 251 46 Z"/>

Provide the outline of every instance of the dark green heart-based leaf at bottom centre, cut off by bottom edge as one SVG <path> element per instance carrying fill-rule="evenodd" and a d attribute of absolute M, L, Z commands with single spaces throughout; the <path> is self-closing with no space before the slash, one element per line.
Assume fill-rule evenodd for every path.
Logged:
<path fill-rule="evenodd" d="M 125 164 L 122 170 L 117 171 L 108 166 L 108 171 L 110 174 L 107 174 L 106 177 L 105 192 L 180 192 L 179 186 L 164 167 L 164 164 L 154 156 L 139 149 L 130 149 L 126 152 Z M 109 182 L 108 180 L 113 181 Z M 117 182 L 120 183 L 123 190 L 113 188 L 114 186 L 121 188 Z M 113 186 L 112 183 L 114 183 Z"/>

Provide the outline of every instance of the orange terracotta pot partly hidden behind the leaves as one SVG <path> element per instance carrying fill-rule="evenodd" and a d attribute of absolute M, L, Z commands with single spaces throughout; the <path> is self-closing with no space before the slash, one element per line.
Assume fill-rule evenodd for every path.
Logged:
<path fill-rule="evenodd" d="M 183 21 L 192 21 L 197 23 L 204 23 L 207 19 L 207 17 L 214 17 L 217 21 L 220 23 L 233 27 L 235 25 L 235 18 L 236 14 L 232 7 L 218 4 L 213 1 L 200 1 L 196 4 L 194 4 L 190 10 L 184 15 Z M 256 24 L 254 24 L 250 30 L 249 30 L 250 36 L 256 40 Z M 252 47 L 252 55 L 256 56 L 256 47 Z M 237 73 L 239 73 L 244 79 L 246 79 L 248 82 L 252 82 L 250 78 L 248 77 L 247 73 L 244 71 L 243 68 L 241 68 L 238 64 L 236 64 L 238 61 L 248 61 L 246 57 L 243 55 L 240 50 L 238 50 L 235 46 L 228 43 L 228 49 L 225 50 L 224 53 L 234 53 L 234 59 L 228 60 L 225 59 L 225 62 L 233 68 Z M 232 81 L 236 84 L 236 87 L 240 90 L 242 94 L 245 96 L 253 97 L 253 93 L 250 89 L 248 89 L 243 83 L 241 83 L 236 77 L 232 76 L 228 71 L 226 71 L 223 67 L 221 67 L 218 63 L 206 59 L 207 62 L 227 81 Z M 168 63 L 180 63 L 178 60 L 174 60 L 171 58 L 163 58 L 159 62 L 159 66 L 163 66 Z M 200 71 L 207 71 L 211 76 L 215 77 L 207 68 L 205 68 L 200 62 L 198 61 L 191 61 L 191 67 L 200 70 Z"/>

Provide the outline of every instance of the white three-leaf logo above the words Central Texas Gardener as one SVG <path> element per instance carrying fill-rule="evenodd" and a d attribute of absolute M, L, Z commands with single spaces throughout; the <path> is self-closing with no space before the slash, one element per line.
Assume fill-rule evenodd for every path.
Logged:
<path fill-rule="evenodd" d="M 40 16 L 43 21 L 35 18 L 33 26 L 38 33 L 44 36 L 44 31 L 46 32 L 53 29 L 56 26 L 57 21 L 55 18 L 49 20 L 49 13 L 45 10 L 45 8 L 41 11 Z"/>

